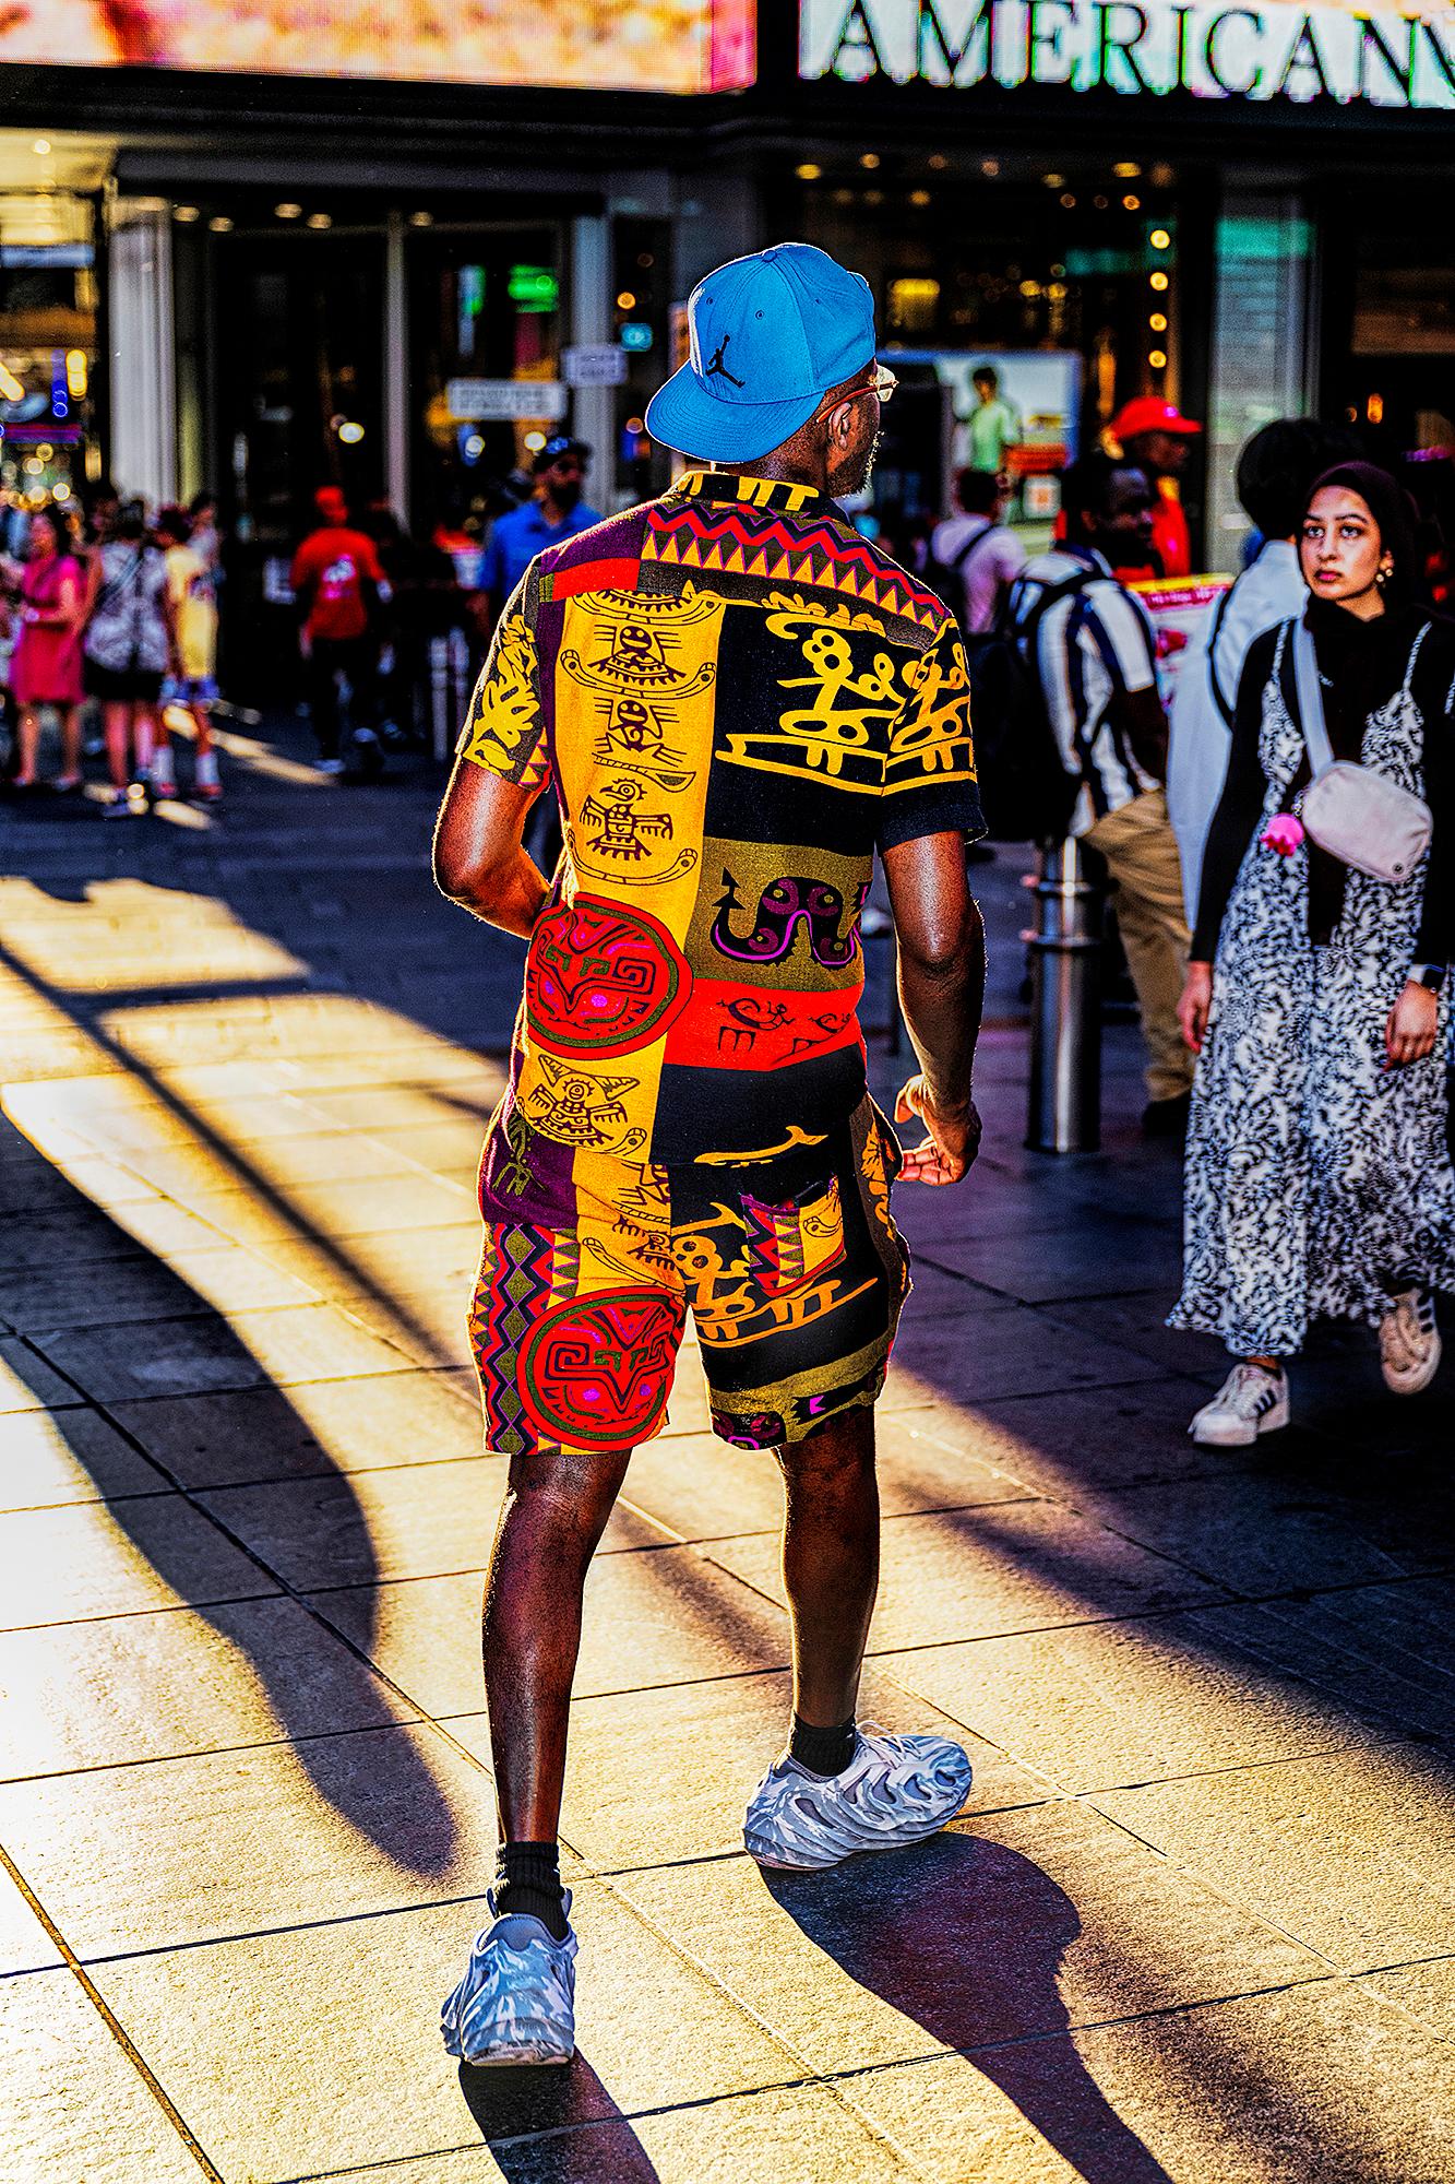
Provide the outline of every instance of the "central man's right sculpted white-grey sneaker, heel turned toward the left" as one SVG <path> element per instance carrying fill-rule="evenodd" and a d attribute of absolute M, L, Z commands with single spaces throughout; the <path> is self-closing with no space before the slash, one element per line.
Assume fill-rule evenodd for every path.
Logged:
<path fill-rule="evenodd" d="M 743 1819 L 758 1865 L 811 1874 L 859 1850 L 902 1850 L 937 1835 L 970 1795 L 970 1758 L 948 1736 L 859 1730 L 843 1773 L 815 1776 L 786 1754 L 773 1760 Z"/>

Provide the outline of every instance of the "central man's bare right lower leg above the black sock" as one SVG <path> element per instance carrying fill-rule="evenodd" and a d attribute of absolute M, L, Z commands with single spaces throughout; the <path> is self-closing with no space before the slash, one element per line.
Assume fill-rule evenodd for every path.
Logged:
<path fill-rule="evenodd" d="M 841 1411 L 806 1441 L 780 1448 L 786 1487 L 782 1579 L 793 1621 L 793 1734 L 848 1730 L 878 1592 L 874 1411 Z M 830 1754 L 832 1756 L 832 1754 Z M 821 1769 L 835 1771 L 835 1769 Z"/>

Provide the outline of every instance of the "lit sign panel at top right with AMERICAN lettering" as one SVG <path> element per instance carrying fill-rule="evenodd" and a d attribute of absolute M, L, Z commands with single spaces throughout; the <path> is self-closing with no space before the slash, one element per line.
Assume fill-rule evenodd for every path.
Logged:
<path fill-rule="evenodd" d="M 1455 107 L 1455 7 L 1389 0 L 802 0 L 800 74 Z"/>

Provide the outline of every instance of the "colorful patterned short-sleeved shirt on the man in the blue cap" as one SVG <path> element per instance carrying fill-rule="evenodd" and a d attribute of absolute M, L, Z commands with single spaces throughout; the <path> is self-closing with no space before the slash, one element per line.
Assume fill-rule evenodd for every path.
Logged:
<path fill-rule="evenodd" d="M 813 487 L 688 472 L 531 563 L 459 749 L 564 817 L 485 1162 L 511 1219 L 575 1151 L 752 1160 L 852 1114 L 874 852 L 983 832 L 933 592 Z"/>

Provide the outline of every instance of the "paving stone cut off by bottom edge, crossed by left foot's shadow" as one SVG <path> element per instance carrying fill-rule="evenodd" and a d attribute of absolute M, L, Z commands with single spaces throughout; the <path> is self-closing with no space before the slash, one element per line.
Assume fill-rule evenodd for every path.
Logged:
<path fill-rule="evenodd" d="M 489 2075 L 474 2108 L 489 2121 Z M 566 2103 L 564 2103 L 566 2105 Z M 505 2164 L 505 2171 L 502 2171 Z M 830 2086 L 789 2086 L 557 2129 L 489 2151 L 435 2153 L 389 2169 L 350 2169 L 350 2184 L 896 2184 L 924 2175 L 872 2132 Z M 343 2175 L 336 2171 L 339 2184 Z M 330 2184 L 321 2177 L 317 2184 Z"/>

